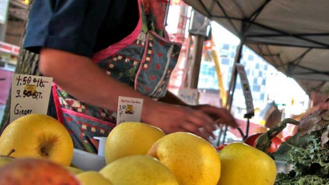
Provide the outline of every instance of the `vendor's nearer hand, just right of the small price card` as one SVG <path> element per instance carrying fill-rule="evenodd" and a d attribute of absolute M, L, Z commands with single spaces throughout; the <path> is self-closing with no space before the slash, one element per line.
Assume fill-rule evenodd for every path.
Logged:
<path fill-rule="evenodd" d="M 145 107 L 144 110 L 142 121 L 162 129 L 167 134 L 189 132 L 208 139 L 207 135 L 199 130 L 203 128 L 207 134 L 215 138 L 213 134 L 216 129 L 215 121 L 201 110 L 162 102 L 156 102 L 152 106 Z"/>

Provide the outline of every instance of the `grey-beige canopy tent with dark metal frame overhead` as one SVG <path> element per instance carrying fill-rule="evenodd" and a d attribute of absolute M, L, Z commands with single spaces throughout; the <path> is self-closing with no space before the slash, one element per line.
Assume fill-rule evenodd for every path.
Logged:
<path fill-rule="evenodd" d="M 329 90 L 329 0 L 184 0 L 307 92 Z"/>

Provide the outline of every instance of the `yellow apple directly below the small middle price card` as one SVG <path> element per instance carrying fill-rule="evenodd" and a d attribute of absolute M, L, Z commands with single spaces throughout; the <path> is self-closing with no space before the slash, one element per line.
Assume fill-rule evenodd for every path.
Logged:
<path fill-rule="evenodd" d="M 162 130 L 145 123 L 121 123 L 106 139 L 106 164 L 129 155 L 146 155 L 153 143 L 164 135 Z"/>

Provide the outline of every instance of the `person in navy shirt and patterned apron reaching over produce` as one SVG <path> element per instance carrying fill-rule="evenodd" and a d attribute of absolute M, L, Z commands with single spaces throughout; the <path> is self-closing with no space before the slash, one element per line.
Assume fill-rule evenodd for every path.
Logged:
<path fill-rule="evenodd" d="M 206 137 L 200 128 L 213 135 L 216 123 L 237 126 L 225 109 L 187 106 L 166 91 L 181 49 L 165 33 L 167 3 L 33 0 L 24 47 L 40 53 L 39 69 L 53 77 L 49 112 L 75 148 L 97 151 L 93 136 L 115 127 L 119 96 L 143 99 L 141 121 L 165 133 Z"/>

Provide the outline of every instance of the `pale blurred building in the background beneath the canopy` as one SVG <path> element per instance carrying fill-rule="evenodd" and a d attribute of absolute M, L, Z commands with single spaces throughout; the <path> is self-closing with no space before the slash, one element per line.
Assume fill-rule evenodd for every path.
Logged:
<path fill-rule="evenodd" d="M 216 44 L 217 52 L 220 55 L 222 80 L 227 91 L 229 89 L 237 45 L 220 41 Z M 240 63 L 245 66 L 255 109 L 262 111 L 268 103 L 275 101 L 280 110 L 286 112 L 286 114 L 283 114 L 283 117 L 290 117 L 291 115 L 300 114 L 308 108 L 309 97 L 299 85 L 293 79 L 286 77 L 275 67 L 269 65 L 249 48 L 243 48 Z M 218 79 L 214 61 L 211 57 L 203 57 L 202 59 L 198 89 L 201 93 L 200 103 L 220 106 Z M 233 97 L 232 113 L 237 118 L 243 118 L 246 113 L 245 108 L 245 98 L 238 77 Z M 255 122 L 259 122 L 260 111 L 256 111 Z"/>

